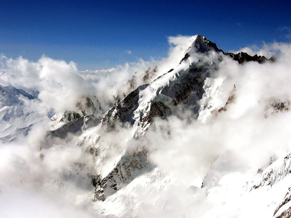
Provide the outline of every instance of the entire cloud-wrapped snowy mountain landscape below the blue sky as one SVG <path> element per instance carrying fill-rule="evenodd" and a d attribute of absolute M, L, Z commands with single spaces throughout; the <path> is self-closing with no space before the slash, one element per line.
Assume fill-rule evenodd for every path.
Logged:
<path fill-rule="evenodd" d="M 2 57 L 0 214 L 290 217 L 291 45 L 171 43 L 123 70 Z"/>

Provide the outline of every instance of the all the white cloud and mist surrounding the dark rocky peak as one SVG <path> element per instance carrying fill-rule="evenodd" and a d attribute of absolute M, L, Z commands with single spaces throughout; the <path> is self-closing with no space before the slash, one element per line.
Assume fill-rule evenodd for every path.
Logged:
<path fill-rule="evenodd" d="M 50 109 L 76 110 L 76 103 L 87 95 L 95 95 L 106 111 L 113 96 L 128 91 L 128 80 L 134 75 L 135 85 L 141 85 L 148 68 L 156 66 L 155 79 L 176 67 L 190 41 L 191 37 L 187 36 L 169 37 L 168 57 L 139 60 L 103 71 L 79 71 L 74 62 L 46 56 L 37 62 L 2 56 L 0 84 L 38 90 L 40 101 L 30 107 L 41 108 L 42 116 Z M 247 209 L 260 196 L 245 194 L 247 183 L 252 182 L 259 168 L 267 167 L 270 160 L 291 150 L 290 111 L 272 110 L 274 101 L 290 102 L 291 45 L 273 43 L 242 51 L 267 58 L 273 56 L 275 62 L 239 65 L 224 57 L 208 80 L 216 85 L 204 99 L 211 102 L 212 109 L 201 108 L 199 114 L 193 114 L 179 106 L 183 113 L 155 117 L 140 141 L 132 139 L 136 131 L 132 127 L 104 133 L 100 143 L 103 147 L 99 148 L 103 149 L 104 158 L 98 162 L 98 173 L 108 174 L 126 151 L 141 146 L 147 148 L 152 167 L 104 202 L 92 201 L 95 188 L 88 176 L 96 170 L 96 159 L 87 147 L 101 134 L 100 126 L 88 129 L 83 136 L 46 140 L 49 127 L 44 122 L 34 125 L 18 141 L 2 143 L 1 214 L 6 217 L 218 217 L 233 208 L 242 213 L 233 212 L 231 217 L 248 214 Z M 234 100 L 225 106 L 230 94 L 234 94 Z M 86 138 L 89 132 L 95 138 Z M 223 206 L 213 207 L 213 202 Z M 235 203 L 241 204 L 240 207 L 234 206 Z"/>

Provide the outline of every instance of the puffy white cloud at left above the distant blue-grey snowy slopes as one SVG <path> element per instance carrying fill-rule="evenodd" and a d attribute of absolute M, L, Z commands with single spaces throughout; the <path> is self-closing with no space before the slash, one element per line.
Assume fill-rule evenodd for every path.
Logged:
<path fill-rule="evenodd" d="M 74 110 L 78 98 L 94 94 L 95 88 L 78 73 L 74 62 L 43 56 L 38 62 L 19 57 L 2 58 L 0 83 L 22 89 L 37 89 L 39 99 L 56 111 Z"/>

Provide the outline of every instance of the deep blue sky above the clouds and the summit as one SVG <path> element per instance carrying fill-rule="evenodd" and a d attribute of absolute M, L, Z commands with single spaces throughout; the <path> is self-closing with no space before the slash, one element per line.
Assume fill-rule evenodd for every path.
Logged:
<path fill-rule="evenodd" d="M 97 70 L 165 57 L 168 36 L 202 34 L 224 51 L 290 42 L 290 8 L 287 1 L 2 0 L 0 53 Z"/>

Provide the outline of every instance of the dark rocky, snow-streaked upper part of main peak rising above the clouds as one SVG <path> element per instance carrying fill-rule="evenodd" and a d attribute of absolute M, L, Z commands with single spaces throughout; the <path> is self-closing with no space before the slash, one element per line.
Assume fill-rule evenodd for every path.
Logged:
<path fill-rule="evenodd" d="M 169 69 L 153 82 L 139 86 L 128 94 L 107 112 L 105 119 L 103 119 L 103 125 L 113 127 L 114 122 L 119 120 L 123 123 L 140 126 L 144 131 L 154 116 L 164 116 L 166 113 L 173 114 L 173 107 L 181 103 L 187 107 L 192 107 L 194 114 L 197 114 L 200 109 L 198 100 L 202 98 L 205 90 L 209 87 L 212 88 L 212 86 L 218 86 L 217 82 L 210 83 L 215 79 L 211 77 L 218 70 L 222 55 L 230 56 L 240 64 L 246 61 L 262 63 L 267 60 L 265 57 L 250 56 L 246 53 L 236 55 L 224 53 L 217 48 L 215 43 L 201 35 L 193 36 L 191 40 L 192 44 L 185 51 L 185 56 L 178 59 L 180 62 L 177 61 L 176 68 Z M 218 80 L 221 78 L 216 79 L 216 81 Z M 224 81 L 220 81 L 220 83 L 222 82 Z M 233 86 L 234 84 L 230 91 L 232 91 Z M 226 101 L 221 107 L 225 104 Z"/>

